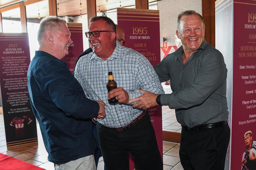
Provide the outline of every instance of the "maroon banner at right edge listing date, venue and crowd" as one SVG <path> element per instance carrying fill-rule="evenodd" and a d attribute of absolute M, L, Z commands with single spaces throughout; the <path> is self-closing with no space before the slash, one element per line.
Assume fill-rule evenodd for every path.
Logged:
<path fill-rule="evenodd" d="M 249 170 L 256 169 L 256 160 L 243 154 L 251 139 L 256 139 L 256 2 L 234 1 L 233 101 L 231 133 L 231 169 L 241 169 L 242 158 Z M 256 154 L 256 153 L 254 153 Z"/>

